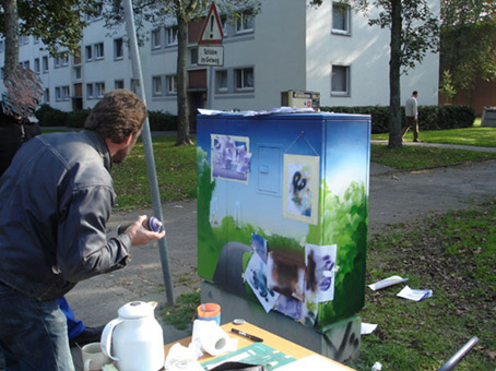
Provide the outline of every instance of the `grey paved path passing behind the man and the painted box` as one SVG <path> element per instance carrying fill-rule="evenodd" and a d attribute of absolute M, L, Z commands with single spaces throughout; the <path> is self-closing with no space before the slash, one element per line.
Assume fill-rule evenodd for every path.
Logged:
<path fill-rule="evenodd" d="M 369 191 L 369 232 L 373 234 L 388 224 L 411 222 L 449 210 L 472 208 L 479 202 L 496 198 L 496 159 L 414 172 L 373 164 Z M 194 201 L 166 204 L 163 210 L 176 296 L 198 289 L 200 283 L 196 274 L 196 210 Z M 133 220 L 139 213 L 151 215 L 152 211 L 117 213 L 109 227 Z M 76 316 L 93 326 L 113 320 L 119 307 L 132 300 L 157 300 L 164 307 L 163 287 L 158 250 L 150 244 L 134 248 L 127 268 L 82 282 L 67 298 Z M 157 308 L 156 316 L 160 310 Z M 187 335 L 170 326 L 163 327 L 167 343 Z M 73 348 L 73 356 L 78 370 L 82 370 L 79 349 Z"/>

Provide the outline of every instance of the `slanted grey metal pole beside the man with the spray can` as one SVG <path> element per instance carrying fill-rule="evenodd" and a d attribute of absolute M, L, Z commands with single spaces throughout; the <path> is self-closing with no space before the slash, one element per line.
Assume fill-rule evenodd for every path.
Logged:
<path fill-rule="evenodd" d="M 146 105 L 146 98 L 144 93 L 144 84 L 143 84 L 143 73 L 141 70 L 141 60 L 138 50 L 138 39 L 137 39 L 137 32 L 134 26 L 134 14 L 132 12 L 132 0 L 125 0 L 125 17 L 126 17 L 126 27 L 128 32 L 129 38 L 129 46 L 131 52 L 131 65 L 132 65 L 132 75 L 135 80 L 139 81 L 139 91 L 138 95 L 140 95 L 143 103 Z M 153 213 L 155 217 L 161 220 L 164 220 L 164 216 L 162 214 L 162 204 L 161 204 L 161 195 L 158 192 L 158 182 L 156 179 L 156 171 L 155 171 L 155 157 L 153 156 L 153 146 L 152 146 L 152 133 L 150 131 L 150 122 L 149 118 L 143 125 L 143 131 L 141 132 L 141 136 L 143 139 L 144 145 L 144 155 L 146 158 L 146 171 L 149 175 L 150 181 L 150 191 L 152 193 L 152 203 L 153 203 Z M 161 262 L 162 262 L 162 274 L 164 276 L 164 284 L 165 284 L 165 294 L 167 296 L 167 304 L 175 306 L 176 301 L 174 298 L 174 287 L 173 287 L 173 279 L 170 277 L 170 270 L 168 265 L 168 253 L 167 253 L 167 237 L 165 236 L 163 239 L 158 240 L 158 251 L 161 253 Z"/>

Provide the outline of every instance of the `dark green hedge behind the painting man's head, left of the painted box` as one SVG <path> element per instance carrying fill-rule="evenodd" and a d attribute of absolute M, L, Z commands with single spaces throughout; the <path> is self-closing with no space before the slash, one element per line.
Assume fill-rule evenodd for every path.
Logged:
<path fill-rule="evenodd" d="M 42 105 L 35 112 L 42 127 L 84 128 L 84 121 L 91 109 L 64 112 L 49 105 Z M 177 116 L 163 111 L 149 111 L 150 129 L 152 131 L 176 131 Z"/>

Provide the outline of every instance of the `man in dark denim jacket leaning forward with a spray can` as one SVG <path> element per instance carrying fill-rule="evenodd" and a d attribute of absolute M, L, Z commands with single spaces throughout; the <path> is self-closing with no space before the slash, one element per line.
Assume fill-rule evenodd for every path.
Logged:
<path fill-rule="evenodd" d="M 146 107 L 131 91 L 107 93 L 82 132 L 42 134 L 0 178 L 0 349 L 5 370 L 73 371 L 57 299 L 78 282 L 123 268 L 131 247 L 165 236 L 141 215 L 107 239 L 116 194 L 109 170 L 141 134 Z"/>

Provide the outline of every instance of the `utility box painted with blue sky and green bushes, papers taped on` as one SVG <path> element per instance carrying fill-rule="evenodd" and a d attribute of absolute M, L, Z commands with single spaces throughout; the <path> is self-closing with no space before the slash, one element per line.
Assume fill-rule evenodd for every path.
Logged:
<path fill-rule="evenodd" d="M 306 326 L 364 306 L 370 117 L 198 117 L 198 272 Z"/>

